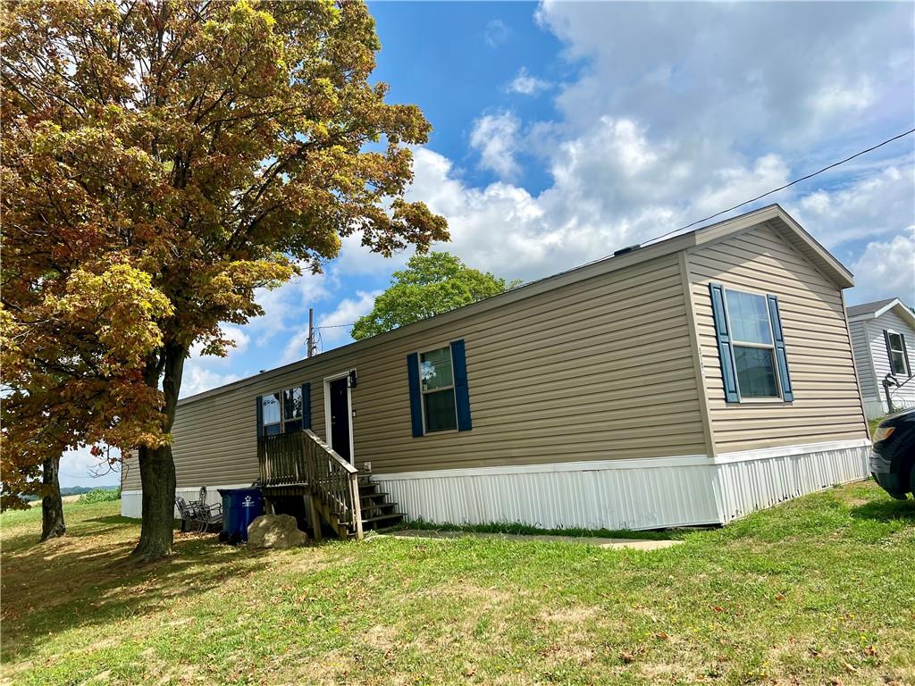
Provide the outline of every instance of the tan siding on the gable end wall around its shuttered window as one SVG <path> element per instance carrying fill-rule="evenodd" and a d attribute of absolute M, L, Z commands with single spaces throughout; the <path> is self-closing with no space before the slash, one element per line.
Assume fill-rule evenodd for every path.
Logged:
<path fill-rule="evenodd" d="M 766 225 L 687 254 L 716 452 L 867 437 L 839 288 Z M 794 402 L 725 402 L 710 282 L 779 297 Z"/>

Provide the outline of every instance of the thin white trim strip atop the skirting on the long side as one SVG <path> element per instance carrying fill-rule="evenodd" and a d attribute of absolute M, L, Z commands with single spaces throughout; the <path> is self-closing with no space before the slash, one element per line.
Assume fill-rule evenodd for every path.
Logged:
<path fill-rule="evenodd" d="M 421 472 L 372 472 L 377 481 L 417 478 L 495 477 L 502 474 L 554 474 L 556 472 L 602 472 L 610 469 L 670 468 L 674 466 L 710 466 L 712 458 L 705 455 L 673 457 L 640 457 L 622 460 L 580 460 L 550 462 L 544 465 L 475 466 L 458 469 L 428 469 Z"/>

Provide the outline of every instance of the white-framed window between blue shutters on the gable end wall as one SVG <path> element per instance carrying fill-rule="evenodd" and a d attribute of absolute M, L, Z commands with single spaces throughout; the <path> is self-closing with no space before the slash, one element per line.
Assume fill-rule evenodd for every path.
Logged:
<path fill-rule="evenodd" d="M 726 290 L 741 398 L 780 398 L 772 323 L 764 295 Z"/>

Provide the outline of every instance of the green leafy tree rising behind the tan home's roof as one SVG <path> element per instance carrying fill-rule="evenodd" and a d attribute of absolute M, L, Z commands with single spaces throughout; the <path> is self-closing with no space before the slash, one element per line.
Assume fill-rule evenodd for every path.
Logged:
<path fill-rule="evenodd" d="M 375 299 L 366 316 L 352 327 L 361 340 L 499 295 L 521 284 L 472 269 L 447 252 L 416 254 L 406 269 L 394 272 L 391 285 Z"/>

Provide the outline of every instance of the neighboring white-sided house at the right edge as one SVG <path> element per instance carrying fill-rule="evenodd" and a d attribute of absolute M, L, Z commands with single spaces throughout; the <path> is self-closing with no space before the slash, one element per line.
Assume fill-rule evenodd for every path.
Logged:
<path fill-rule="evenodd" d="M 915 313 L 899 298 L 848 308 L 867 419 L 915 406 Z M 888 381 L 885 388 L 884 381 Z M 888 407 L 887 395 L 892 402 Z"/>

